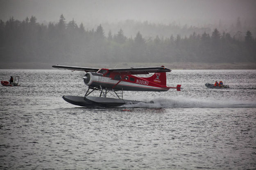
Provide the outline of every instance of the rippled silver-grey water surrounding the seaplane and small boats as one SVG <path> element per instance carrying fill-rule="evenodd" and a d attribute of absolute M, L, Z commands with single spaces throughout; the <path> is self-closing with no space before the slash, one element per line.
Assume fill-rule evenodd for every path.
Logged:
<path fill-rule="evenodd" d="M 0 169 L 256 169 L 256 70 L 173 70 L 180 92 L 124 92 L 154 104 L 120 108 L 66 103 L 84 96 L 83 72 L 0 70 L 11 75 L 21 86 L 0 86 Z M 204 86 L 216 80 L 231 88 Z"/>

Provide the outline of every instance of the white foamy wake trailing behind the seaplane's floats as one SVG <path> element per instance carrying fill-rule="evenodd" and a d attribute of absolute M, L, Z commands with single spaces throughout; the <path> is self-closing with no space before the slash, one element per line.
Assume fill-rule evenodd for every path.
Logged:
<path fill-rule="evenodd" d="M 122 107 L 150 107 L 150 108 L 253 108 L 256 107 L 256 102 L 253 101 L 238 101 L 235 99 L 217 100 L 216 98 L 188 98 L 184 96 L 179 97 L 160 97 L 152 99 L 154 103 L 143 103 L 125 105 Z"/>

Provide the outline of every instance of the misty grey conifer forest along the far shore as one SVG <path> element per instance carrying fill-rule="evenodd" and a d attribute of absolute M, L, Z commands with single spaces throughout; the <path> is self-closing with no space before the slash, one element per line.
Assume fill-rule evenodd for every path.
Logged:
<path fill-rule="evenodd" d="M 164 37 L 159 27 L 159 35 L 150 37 L 143 36 L 143 29 L 138 28 L 134 37 L 127 37 L 122 28 L 118 29 L 111 32 L 98 25 L 88 30 L 74 19 L 66 22 L 63 15 L 59 22 L 46 25 L 37 23 L 34 16 L 23 21 L 12 17 L 6 22 L 0 20 L 0 56 L 4 63 L 256 62 L 256 38 L 250 30 L 241 36 L 239 31 L 231 34 L 218 28 L 210 32 L 194 28 L 189 35 Z"/>

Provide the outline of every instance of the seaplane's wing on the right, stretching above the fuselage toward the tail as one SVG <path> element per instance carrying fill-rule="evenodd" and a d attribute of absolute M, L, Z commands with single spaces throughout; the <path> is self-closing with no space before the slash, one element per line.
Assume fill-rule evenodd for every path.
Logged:
<path fill-rule="evenodd" d="M 110 72 L 119 72 L 126 74 L 149 74 L 160 72 L 171 72 L 172 70 L 166 67 L 140 67 L 140 68 L 123 68 L 123 69 L 109 69 Z"/>

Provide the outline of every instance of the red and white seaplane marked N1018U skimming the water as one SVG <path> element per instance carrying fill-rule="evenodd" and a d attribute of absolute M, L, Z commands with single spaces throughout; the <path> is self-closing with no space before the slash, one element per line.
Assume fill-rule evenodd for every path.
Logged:
<path fill-rule="evenodd" d="M 123 99 L 123 91 L 164 92 L 169 89 L 177 89 L 178 91 L 181 89 L 181 85 L 177 85 L 177 87 L 166 86 L 166 72 L 171 72 L 171 70 L 164 66 L 120 69 L 99 69 L 64 65 L 53 65 L 52 67 L 86 72 L 83 77 L 84 83 L 88 86 L 85 96 L 62 96 L 68 103 L 83 107 L 113 107 L 141 102 Z M 150 73 L 155 74 L 147 78 L 134 76 L 136 74 Z M 88 96 L 95 90 L 100 90 L 99 97 Z M 117 98 L 107 98 L 106 95 L 109 92 L 115 93 Z M 153 101 L 150 102 L 154 103 Z"/>

